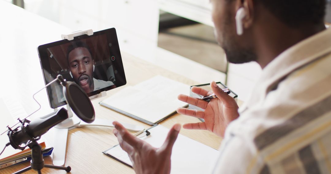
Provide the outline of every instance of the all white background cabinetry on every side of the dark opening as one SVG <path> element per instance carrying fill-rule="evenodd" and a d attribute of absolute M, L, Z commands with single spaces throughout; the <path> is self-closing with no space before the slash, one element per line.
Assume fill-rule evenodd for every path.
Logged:
<path fill-rule="evenodd" d="M 63 24 L 72 31 L 83 29 L 99 31 L 115 27 L 121 51 L 164 66 L 170 71 L 201 83 L 209 83 L 211 80 L 224 82 L 224 73 L 167 51 L 155 49 L 160 9 L 213 26 L 208 0 L 25 0 L 24 2 L 26 10 Z M 59 40 L 61 34 L 59 33 Z M 165 61 L 167 56 L 171 58 Z M 183 72 L 180 66 L 174 65 L 176 62 L 195 67 L 196 71 Z M 209 77 L 197 75 L 199 70 L 210 72 Z M 238 94 L 239 99 L 245 101 L 260 72 L 256 63 L 230 64 L 227 86 Z"/>

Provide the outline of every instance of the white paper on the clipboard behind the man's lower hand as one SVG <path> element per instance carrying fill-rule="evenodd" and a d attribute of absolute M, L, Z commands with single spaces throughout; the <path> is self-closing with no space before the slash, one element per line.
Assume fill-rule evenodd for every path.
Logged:
<path fill-rule="evenodd" d="M 164 143 L 169 129 L 157 125 L 148 130 L 151 134 L 141 137 L 152 146 L 159 148 Z M 138 135 L 139 137 L 139 135 Z M 119 145 L 103 152 L 118 161 L 132 166 L 128 154 Z M 172 148 L 171 173 L 206 173 L 214 163 L 218 151 L 198 141 L 179 134 Z"/>

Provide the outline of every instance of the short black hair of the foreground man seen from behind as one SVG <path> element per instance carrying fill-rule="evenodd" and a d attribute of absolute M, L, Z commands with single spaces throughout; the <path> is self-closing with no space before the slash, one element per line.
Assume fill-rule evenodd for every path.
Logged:
<path fill-rule="evenodd" d="M 254 0 L 291 27 L 324 22 L 326 0 Z"/>

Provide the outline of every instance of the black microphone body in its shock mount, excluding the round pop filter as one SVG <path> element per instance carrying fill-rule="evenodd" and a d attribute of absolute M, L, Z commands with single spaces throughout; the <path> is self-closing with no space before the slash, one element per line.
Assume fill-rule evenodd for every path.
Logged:
<path fill-rule="evenodd" d="M 14 149 L 24 150 L 29 142 L 39 140 L 41 135 L 68 118 L 67 109 L 61 108 L 51 114 L 29 121 L 23 120 L 21 126 L 9 129 L 7 135 Z M 25 144 L 24 147 L 20 145 Z"/>

